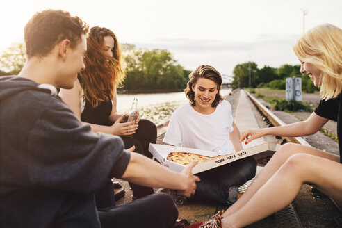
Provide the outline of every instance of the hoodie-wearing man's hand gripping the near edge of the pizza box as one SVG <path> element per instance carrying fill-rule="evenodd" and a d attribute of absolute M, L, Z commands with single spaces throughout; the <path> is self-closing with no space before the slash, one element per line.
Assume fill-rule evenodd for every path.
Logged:
<path fill-rule="evenodd" d="M 201 180 L 192 172 L 193 167 L 197 164 L 197 162 L 198 160 L 192 161 L 190 165 L 186 165 L 184 170 L 181 171 L 181 174 L 186 177 L 186 188 L 184 190 L 181 190 L 179 193 L 181 193 L 181 195 L 184 195 L 185 197 L 190 197 L 191 195 L 195 194 L 196 182 Z"/>

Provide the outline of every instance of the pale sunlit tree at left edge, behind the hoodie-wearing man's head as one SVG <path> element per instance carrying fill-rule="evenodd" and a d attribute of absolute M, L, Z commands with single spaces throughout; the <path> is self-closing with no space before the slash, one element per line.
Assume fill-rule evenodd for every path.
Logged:
<path fill-rule="evenodd" d="M 8 74 L 18 74 L 24 63 L 26 62 L 26 47 L 25 44 L 15 42 L 0 56 L 1 71 Z"/>

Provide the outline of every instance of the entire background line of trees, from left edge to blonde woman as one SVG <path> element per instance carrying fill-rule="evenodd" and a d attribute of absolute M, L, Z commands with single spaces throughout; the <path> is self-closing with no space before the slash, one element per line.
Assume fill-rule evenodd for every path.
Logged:
<path fill-rule="evenodd" d="M 133 44 L 122 44 L 127 76 L 118 90 L 183 90 L 188 82 L 186 70 L 165 49 L 137 49 Z M 14 43 L 0 56 L 0 76 L 18 74 L 26 61 L 25 45 Z M 285 79 L 302 76 L 300 65 L 282 65 L 279 68 L 257 63 L 241 63 L 234 67 L 232 88 L 270 87 L 285 89 Z M 317 88 L 307 76 L 302 77 L 302 90 L 314 92 Z"/>

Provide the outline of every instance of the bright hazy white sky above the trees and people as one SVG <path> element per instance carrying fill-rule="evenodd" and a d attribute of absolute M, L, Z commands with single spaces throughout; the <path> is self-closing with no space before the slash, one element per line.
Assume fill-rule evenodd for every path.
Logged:
<path fill-rule="evenodd" d="M 167 49 L 187 70 L 205 64 L 226 75 L 248 61 L 259 68 L 299 64 L 292 47 L 303 27 L 342 28 L 341 0 L 10 0 L 0 5 L 0 53 L 23 42 L 25 24 L 45 9 L 107 27 L 121 43 Z"/>

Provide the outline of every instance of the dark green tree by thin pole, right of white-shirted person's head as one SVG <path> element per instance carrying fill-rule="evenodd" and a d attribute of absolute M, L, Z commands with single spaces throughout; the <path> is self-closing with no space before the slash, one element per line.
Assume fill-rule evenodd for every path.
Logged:
<path fill-rule="evenodd" d="M 249 74 L 251 75 L 251 86 L 256 87 L 257 82 L 259 79 L 257 79 L 257 73 L 258 73 L 258 65 L 257 63 L 251 62 L 250 63 L 250 72 L 249 72 L 249 63 L 241 63 L 234 67 L 234 79 L 231 83 L 231 86 L 233 88 L 238 87 L 249 87 Z"/>

